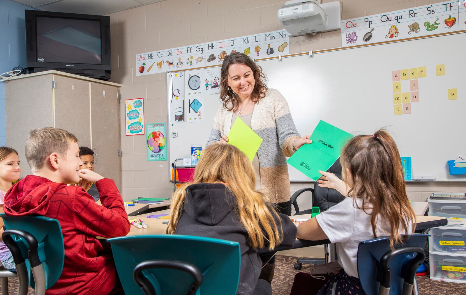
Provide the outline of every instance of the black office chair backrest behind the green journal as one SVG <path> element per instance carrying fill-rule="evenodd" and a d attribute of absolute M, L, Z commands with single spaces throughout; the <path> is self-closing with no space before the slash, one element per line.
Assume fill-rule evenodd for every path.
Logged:
<path fill-rule="evenodd" d="M 342 165 L 340 164 L 340 158 L 327 170 L 342 179 Z M 339 202 L 343 201 L 345 197 L 340 194 L 334 188 L 321 188 L 317 182 L 314 184 L 314 192 L 312 194 L 312 206 L 320 208 L 320 212 L 324 212 L 332 206 L 335 206 Z"/>

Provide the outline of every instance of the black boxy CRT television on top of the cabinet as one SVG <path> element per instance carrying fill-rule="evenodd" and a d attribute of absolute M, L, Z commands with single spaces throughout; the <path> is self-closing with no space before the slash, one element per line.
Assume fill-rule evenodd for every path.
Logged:
<path fill-rule="evenodd" d="M 109 80 L 110 17 L 26 10 L 29 71 L 59 70 Z"/>

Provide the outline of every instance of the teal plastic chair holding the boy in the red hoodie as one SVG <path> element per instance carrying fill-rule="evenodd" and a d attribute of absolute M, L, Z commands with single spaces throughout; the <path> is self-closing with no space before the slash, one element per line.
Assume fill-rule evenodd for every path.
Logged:
<path fill-rule="evenodd" d="M 7 229 L 5 232 L 13 238 L 21 251 L 22 257 L 15 259 L 15 256 L 13 256 L 15 264 L 19 264 L 23 260 L 27 267 L 28 285 L 32 288 L 37 287 L 35 294 L 42 291 L 45 293 L 45 290 L 51 288 L 58 281 L 60 275 L 62 275 L 63 263 L 65 261 L 65 248 L 60 222 L 44 216 L 7 216 L 0 214 L 0 217 L 3 219 L 5 228 Z M 28 235 L 34 237 L 34 240 L 37 241 L 37 246 L 34 245 L 34 240 L 30 239 Z M 32 259 L 30 257 L 31 251 L 35 251 L 34 248 L 37 248 L 38 260 L 34 256 Z M 41 265 L 43 269 L 43 282 L 42 279 L 41 282 L 34 281 L 34 275 L 37 278 L 41 274 L 34 271 L 31 268 L 31 264 L 33 268 L 38 264 Z M 39 288 L 43 290 L 39 290 Z"/>

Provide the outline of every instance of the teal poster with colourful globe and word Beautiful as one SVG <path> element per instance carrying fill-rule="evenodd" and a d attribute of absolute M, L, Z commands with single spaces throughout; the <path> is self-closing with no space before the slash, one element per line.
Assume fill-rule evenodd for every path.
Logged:
<path fill-rule="evenodd" d="M 167 160 L 166 125 L 155 123 L 146 125 L 147 134 L 147 161 Z"/>

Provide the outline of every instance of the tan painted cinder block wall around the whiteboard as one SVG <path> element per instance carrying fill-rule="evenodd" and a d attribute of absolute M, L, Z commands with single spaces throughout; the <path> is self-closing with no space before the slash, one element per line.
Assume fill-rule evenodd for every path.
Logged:
<path fill-rule="evenodd" d="M 324 0 L 323 2 L 329 2 Z M 416 7 L 438 0 L 343 0 L 342 19 Z M 168 197 L 171 183 L 168 162 L 147 162 L 144 136 L 124 135 L 125 99 L 144 97 L 146 123 L 166 122 L 164 74 L 136 76 L 135 55 L 207 41 L 279 30 L 277 0 L 166 0 L 110 14 L 112 31 L 112 82 L 122 83 L 123 198 Z M 341 46 L 340 31 L 290 38 L 290 53 Z M 310 184 L 312 186 L 312 184 Z M 309 183 L 292 183 L 291 193 Z M 425 201 L 434 191 L 466 191 L 464 183 L 410 183 L 408 196 Z M 302 208 L 311 206 L 300 198 Z"/>

